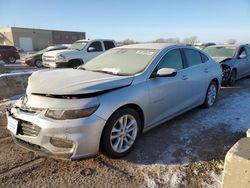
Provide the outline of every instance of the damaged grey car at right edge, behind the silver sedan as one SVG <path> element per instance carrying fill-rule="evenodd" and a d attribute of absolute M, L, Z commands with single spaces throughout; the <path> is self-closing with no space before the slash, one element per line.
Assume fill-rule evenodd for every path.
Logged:
<path fill-rule="evenodd" d="M 249 45 L 215 45 L 204 49 L 223 69 L 223 85 L 233 85 L 236 80 L 250 75 Z"/>

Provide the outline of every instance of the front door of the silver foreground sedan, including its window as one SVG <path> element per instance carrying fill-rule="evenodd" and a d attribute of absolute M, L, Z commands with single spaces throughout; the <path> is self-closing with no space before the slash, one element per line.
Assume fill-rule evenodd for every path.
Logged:
<path fill-rule="evenodd" d="M 147 81 L 150 98 L 150 124 L 155 124 L 187 108 L 186 87 L 187 73 L 180 49 L 173 49 L 167 52 L 154 72 L 161 68 L 174 68 L 177 75 L 173 77 L 153 77 Z"/>

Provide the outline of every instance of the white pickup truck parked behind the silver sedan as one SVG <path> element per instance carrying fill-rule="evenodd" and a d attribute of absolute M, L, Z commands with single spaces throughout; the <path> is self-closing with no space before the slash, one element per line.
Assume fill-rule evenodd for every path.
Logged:
<path fill-rule="evenodd" d="M 77 67 L 103 52 L 116 47 L 113 40 L 78 40 L 68 49 L 43 54 L 43 66 L 50 68 Z"/>

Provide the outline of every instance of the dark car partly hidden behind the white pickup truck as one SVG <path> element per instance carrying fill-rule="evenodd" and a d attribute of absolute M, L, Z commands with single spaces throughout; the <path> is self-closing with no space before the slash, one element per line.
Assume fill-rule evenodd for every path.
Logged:
<path fill-rule="evenodd" d="M 42 55 L 45 52 L 54 51 L 54 50 L 63 50 L 67 49 L 70 45 L 69 44 L 60 44 L 55 46 L 49 46 L 41 51 L 38 51 L 34 54 L 30 54 L 25 56 L 24 63 L 26 63 L 29 66 L 36 66 L 36 67 L 42 67 Z"/>

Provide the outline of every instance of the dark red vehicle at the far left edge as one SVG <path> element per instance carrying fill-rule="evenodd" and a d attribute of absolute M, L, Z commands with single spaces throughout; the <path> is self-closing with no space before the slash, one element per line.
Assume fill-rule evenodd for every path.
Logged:
<path fill-rule="evenodd" d="M 14 46 L 0 45 L 0 54 L 3 61 L 6 63 L 16 63 L 20 59 L 20 55 Z"/>

